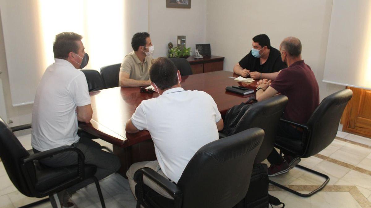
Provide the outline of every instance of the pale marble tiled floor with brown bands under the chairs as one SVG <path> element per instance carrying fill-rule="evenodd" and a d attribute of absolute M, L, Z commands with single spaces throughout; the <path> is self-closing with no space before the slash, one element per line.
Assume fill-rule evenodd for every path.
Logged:
<path fill-rule="evenodd" d="M 17 136 L 22 145 L 29 149 L 29 132 L 18 133 Z M 97 141 L 112 147 L 105 141 Z M 334 142 L 325 150 L 313 157 L 303 158 L 300 164 L 328 175 L 330 181 L 325 189 L 309 198 L 301 198 L 270 185 L 270 194 L 284 202 L 286 207 L 371 207 L 371 139 L 339 131 Z M 270 179 L 303 193 L 308 193 L 313 185 L 320 185 L 324 181 L 299 168 Z M 128 181 L 121 175 L 112 174 L 100 184 L 106 207 L 135 207 Z M 14 208 L 36 200 L 17 191 L 0 162 L 0 207 Z M 95 185 L 76 192 L 72 201 L 80 208 L 101 207 Z M 45 203 L 38 207 L 51 206 Z"/>

